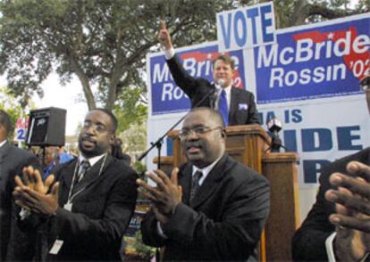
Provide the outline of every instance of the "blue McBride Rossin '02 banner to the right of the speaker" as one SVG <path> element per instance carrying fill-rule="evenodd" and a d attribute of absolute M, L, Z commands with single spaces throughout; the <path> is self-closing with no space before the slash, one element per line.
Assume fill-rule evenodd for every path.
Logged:
<path fill-rule="evenodd" d="M 370 18 L 287 29 L 254 49 L 257 103 L 358 94 L 369 73 Z"/>

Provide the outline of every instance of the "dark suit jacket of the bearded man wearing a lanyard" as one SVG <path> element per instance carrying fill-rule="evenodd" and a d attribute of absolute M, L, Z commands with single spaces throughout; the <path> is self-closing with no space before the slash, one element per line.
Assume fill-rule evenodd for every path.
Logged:
<path fill-rule="evenodd" d="M 63 209 L 68 200 L 77 160 L 55 172 L 60 181 L 59 207 L 49 221 L 49 247 L 56 239 L 62 249 L 49 260 L 120 260 L 122 236 L 130 222 L 137 198 L 136 173 L 121 160 L 108 155 L 88 169 L 76 184 L 82 190 L 72 200 L 72 209 Z"/>

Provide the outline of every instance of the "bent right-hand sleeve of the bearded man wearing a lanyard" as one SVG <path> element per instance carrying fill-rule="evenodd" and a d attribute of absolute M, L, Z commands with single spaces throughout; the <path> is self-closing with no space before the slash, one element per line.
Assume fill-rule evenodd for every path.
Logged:
<path fill-rule="evenodd" d="M 106 198 L 101 218 L 94 219 L 58 208 L 54 223 L 57 235 L 81 248 L 87 247 L 87 250 L 112 250 L 113 246 L 119 245 L 135 209 L 136 178 L 130 169 L 130 172 L 117 179 Z"/>

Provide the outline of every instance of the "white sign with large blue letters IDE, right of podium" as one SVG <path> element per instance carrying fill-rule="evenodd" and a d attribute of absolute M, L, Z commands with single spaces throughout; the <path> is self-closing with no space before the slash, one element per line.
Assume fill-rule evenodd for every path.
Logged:
<path fill-rule="evenodd" d="M 318 183 L 321 170 L 332 160 L 353 154 L 370 144 L 370 121 L 364 94 L 347 99 L 263 106 L 260 117 L 282 121 L 279 132 L 286 151 L 299 152 L 299 185 Z M 267 127 L 265 127 L 267 129 Z M 282 150 L 283 151 L 283 150 Z"/>

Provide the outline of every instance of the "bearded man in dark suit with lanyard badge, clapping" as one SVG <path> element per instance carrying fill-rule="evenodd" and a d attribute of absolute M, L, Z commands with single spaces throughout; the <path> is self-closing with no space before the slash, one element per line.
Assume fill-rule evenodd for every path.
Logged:
<path fill-rule="evenodd" d="M 57 183 L 46 194 L 16 178 L 16 202 L 47 219 L 48 260 L 121 260 L 122 236 L 135 209 L 137 176 L 108 153 L 116 128 L 110 111 L 89 111 L 80 131 L 79 158 L 55 170 Z M 26 173 L 30 181 L 40 183 L 38 174 Z"/>

